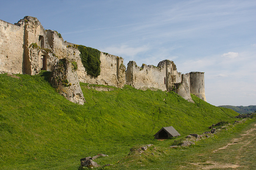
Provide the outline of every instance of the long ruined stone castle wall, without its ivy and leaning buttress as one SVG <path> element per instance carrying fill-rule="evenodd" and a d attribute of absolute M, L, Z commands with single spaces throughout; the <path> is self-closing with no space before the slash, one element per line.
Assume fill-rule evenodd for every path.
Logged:
<path fill-rule="evenodd" d="M 182 74 L 170 60 L 161 61 L 158 66 L 142 64 L 141 67 L 130 61 L 126 69 L 124 59 L 101 52 L 100 75 L 90 76 L 82 64 L 77 45 L 64 41 L 57 31 L 45 30 L 37 18 L 26 16 L 15 24 L 0 20 L 0 73 L 34 75 L 40 70 L 52 71 L 64 58 L 77 63 L 76 74 L 80 82 L 172 90 L 189 102 L 193 102 L 192 93 L 206 101 L 203 72 Z"/>

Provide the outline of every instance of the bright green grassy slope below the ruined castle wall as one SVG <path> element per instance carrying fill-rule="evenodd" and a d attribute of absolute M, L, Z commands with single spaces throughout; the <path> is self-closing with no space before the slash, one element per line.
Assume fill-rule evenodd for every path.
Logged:
<path fill-rule="evenodd" d="M 173 126 L 182 136 L 202 133 L 238 113 L 192 95 L 130 86 L 99 92 L 81 83 L 84 106 L 60 96 L 37 76 L 0 74 L 0 168 L 77 169 L 80 158 L 98 153 L 98 164 L 116 164 L 134 145 L 169 145 L 153 135 Z"/>

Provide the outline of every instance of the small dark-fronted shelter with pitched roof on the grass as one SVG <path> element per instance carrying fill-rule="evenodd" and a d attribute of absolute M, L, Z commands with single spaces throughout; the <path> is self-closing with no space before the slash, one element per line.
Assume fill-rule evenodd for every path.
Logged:
<path fill-rule="evenodd" d="M 154 135 L 155 139 L 169 139 L 177 136 L 180 136 L 180 133 L 178 133 L 172 126 L 163 127 Z"/>

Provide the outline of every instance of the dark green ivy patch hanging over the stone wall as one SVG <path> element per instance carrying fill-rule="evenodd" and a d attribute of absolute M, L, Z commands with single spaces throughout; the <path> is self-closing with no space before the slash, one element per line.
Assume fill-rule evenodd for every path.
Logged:
<path fill-rule="evenodd" d="M 87 74 L 98 77 L 100 75 L 100 51 L 84 45 L 78 45 L 78 50 Z"/>

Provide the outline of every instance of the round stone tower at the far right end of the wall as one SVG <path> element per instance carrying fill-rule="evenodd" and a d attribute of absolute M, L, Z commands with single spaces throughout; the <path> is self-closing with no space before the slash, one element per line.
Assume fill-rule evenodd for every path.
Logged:
<path fill-rule="evenodd" d="M 204 72 L 190 72 L 190 93 L 196 95 L 198 98 L 204 100 Z"/>

